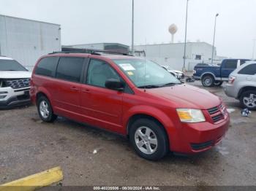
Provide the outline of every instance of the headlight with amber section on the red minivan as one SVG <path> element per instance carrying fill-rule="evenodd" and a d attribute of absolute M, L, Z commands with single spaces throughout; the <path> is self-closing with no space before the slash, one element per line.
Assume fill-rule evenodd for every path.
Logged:
<path fill-rule="evenodd" d="M 176 109 L 181 122 L 204 122 L 206 118 L 200 109 Z"/>

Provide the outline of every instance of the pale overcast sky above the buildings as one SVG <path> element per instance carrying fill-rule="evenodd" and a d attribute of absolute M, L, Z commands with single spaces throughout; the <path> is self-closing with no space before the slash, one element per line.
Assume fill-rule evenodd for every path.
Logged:
<path fill-rule="evenodd" d="M 172 23 L 184 42 L 186 2 L 135 0 L 135 44 L 170 42 Z M 256 0 L 189 0 L 187 39 L 212 44 L 217 12 L 217 55 L 252 58 Z M 58 23 L 65 45 L 131 44 L 132 0 L 0 0 L 0 14 Z"/>

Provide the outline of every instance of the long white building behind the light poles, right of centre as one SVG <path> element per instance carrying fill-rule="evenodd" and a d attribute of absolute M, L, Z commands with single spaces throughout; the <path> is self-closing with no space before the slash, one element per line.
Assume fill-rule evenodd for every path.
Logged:
<path fill-rule="evenodd" d="M 184 43 L 136 45 L 135 55 L 146 55 L 151 61 L 161 66 L 170 66 L 182 70 Z M 197 63 L 211 63 L 212 45 L 206 42 L 187 42 L 186 65 L 188 71 L 194 69 Z M 214 63 L 219 63 L 216 47 L 214 47 Z"/>

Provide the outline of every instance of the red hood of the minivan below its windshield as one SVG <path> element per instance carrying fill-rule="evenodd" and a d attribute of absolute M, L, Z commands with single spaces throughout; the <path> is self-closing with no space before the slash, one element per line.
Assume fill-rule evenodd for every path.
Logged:
<path fill-rule="evenodd" d="M 170 101 L 171 106 L 176 108 L 210 109 L 222 102 L 217 95 L 186 84 L 147 89 L 146 92 Z"/>

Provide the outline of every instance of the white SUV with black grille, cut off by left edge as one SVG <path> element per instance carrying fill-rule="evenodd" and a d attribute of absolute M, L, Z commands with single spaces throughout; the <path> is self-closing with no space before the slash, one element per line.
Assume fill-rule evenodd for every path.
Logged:
<path fill-rule="evenodd" d="M 31 72 L 20 63 L 0 56 L 0 109 L 30 103 L 30 78 Z"/>

